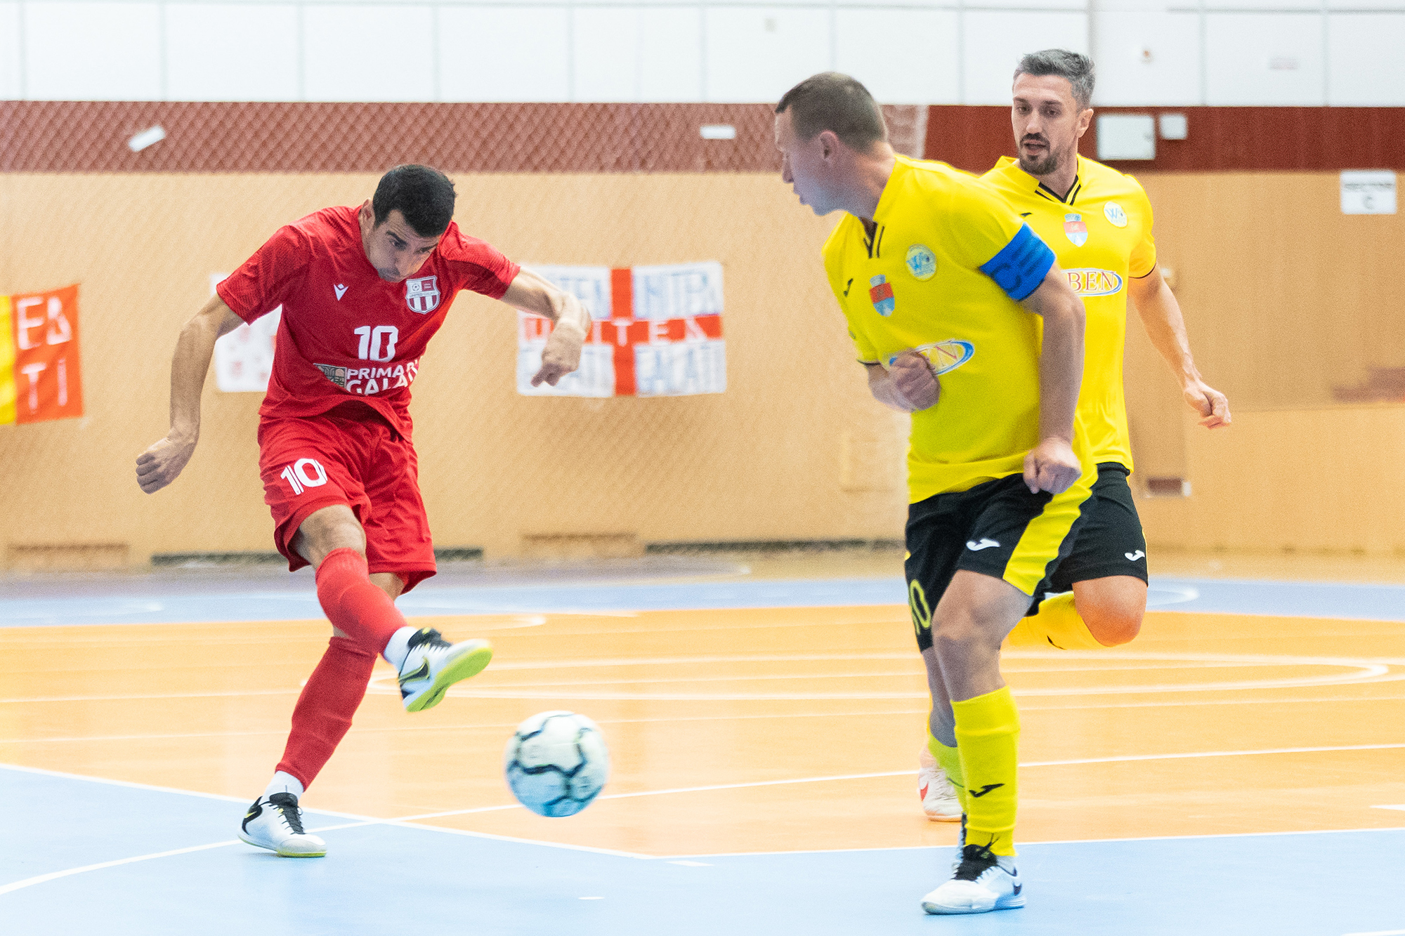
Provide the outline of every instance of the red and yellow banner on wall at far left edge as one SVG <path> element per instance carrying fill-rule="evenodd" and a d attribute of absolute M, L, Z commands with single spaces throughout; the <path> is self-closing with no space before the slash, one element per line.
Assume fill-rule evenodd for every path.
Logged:
<path fill-rule="evenodd" d="M 77 285 L 0 297 L 0 424 L 81 415 Z"/>

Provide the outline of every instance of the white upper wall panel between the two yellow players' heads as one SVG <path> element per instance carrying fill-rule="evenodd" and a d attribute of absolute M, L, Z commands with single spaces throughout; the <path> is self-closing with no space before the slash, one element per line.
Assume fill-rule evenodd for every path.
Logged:
<path fill-rule="evenodd" d="M 884 104 L 955 104 L 954 10 L 840 10 L 835 67 Z"/>

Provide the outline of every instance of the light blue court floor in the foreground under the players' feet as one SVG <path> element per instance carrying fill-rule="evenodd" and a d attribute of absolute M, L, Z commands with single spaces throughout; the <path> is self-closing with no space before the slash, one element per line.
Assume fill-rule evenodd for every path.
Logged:
<path fill-rule="evenodd" d="M 230 839 L 242 802 L 0 769 L 13 933 L 1402 932 L 1405 829 L 1021 846 L 1030 905 L 933 918 L 951 849 L 635 857 L 309 810 L 334 856 Z"/>

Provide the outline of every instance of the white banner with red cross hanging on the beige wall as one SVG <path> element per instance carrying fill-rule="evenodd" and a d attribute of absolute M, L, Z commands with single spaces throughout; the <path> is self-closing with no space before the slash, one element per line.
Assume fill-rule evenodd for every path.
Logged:
<path fill-rule="evenodd" d="M 532 386 L 552 325 L 518 311 L 518 394 L 688 396 L 726 391 L 721 263 L 531 270 L 580 299 L 593 325 L 580 368 L 556 386 Z"/>

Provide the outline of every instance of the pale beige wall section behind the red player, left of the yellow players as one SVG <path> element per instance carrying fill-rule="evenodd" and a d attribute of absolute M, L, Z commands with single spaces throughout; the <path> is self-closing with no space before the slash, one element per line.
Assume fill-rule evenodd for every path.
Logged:
<path fill-rule="evenodd" d="M 357 204 L 374 186 L 330 174 L 0 177 L 0 290 L 81 284 L 87 406 L 81 420 L 0 429 L 6 541 L 129 542 L 135 558 L 270 548 L 257 395 L 221 394 L 211 378 L 200 448 L 167 490 L 140 493 L 132 460 L 166 431 L 171 349 L 209 274 L 278 225 Z M 436 542 L 511 554 L 523 534 L 901 535 L 901 460 L 880 460 L 875 483 L 853 478 L 854 464 L 873 462 L 867 447 L 901 451 L 888 436 L 902 424 L 868 398 L 825 284 L 832 221 L 773 176 L 461 176 L 458 188 L 459 223 L 518 260 L 721 260 L 729 386 L 521 398 L 514 315 L 462 295 L 412 410 Z"/>

